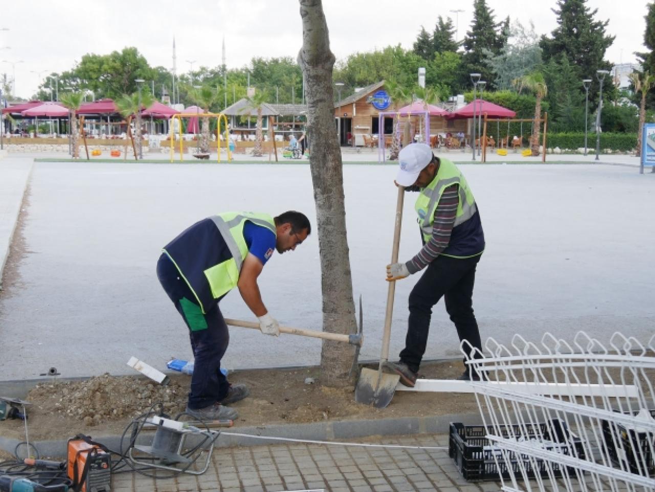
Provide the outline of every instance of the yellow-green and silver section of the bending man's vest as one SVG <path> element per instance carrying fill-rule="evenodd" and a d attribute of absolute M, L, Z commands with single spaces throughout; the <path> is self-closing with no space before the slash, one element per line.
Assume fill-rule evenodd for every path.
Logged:
<path fill-rule="evenodd" d="M 249 220 L 257 226 L 262 226 L 276 234 L 275 222 L 270 215 L 258 213 L 220 213 L 211 217 L 227 245 L 232 258 L 214 265 L 204 271 L 212 296 L 215 299 L 234 289 L 239 281 L 239 274 L 244 258 L 248 255 L 248 245 L 244 239 L 244 225 Z"/>

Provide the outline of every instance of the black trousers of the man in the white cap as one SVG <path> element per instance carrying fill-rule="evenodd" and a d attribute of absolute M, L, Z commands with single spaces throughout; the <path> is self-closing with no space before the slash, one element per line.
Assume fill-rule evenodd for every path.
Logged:
<path fill-rule="evenodd" d="M 437 256 L 409 294 L 409 323 L 400 360 L 413 372 L 419 371 L 428 343 L 432 306 L 442 296 L 445 298 L 446 311 L 457 328 L 460 342 L 468 340 L 473 347 L 481 349 L 472 300 L 480 256 L 461 259 Z"/>

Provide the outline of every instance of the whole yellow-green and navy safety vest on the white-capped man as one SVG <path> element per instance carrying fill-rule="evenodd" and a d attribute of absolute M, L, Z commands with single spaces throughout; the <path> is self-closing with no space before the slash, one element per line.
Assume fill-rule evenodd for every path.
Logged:
<path fill-rule="evenodd" d="M 434 212 L 437 209 L 443 190 L 448 186 L 459 186 L 459 202 L 453 232 L 443 256 L 468 258 L 480 255 L 485 249 L 485 239 L 477 211 L 476 200 L 464 175 L 453 162 L 440 158 L 440 166 L 436 176 L 428 186 L 422 188 L 421 194 L 414 205 L 419 216 L 419 226 L 423 240 L 427 243 L 432 237 Z"/>

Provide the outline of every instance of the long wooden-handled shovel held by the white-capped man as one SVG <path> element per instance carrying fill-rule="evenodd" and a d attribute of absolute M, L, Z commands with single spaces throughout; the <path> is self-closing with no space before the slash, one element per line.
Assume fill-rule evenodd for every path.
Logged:
<path fill-rule="evenodd" d="M 391 262 L 398 262 L 398 247 L 400 246 L 400 226 L 403 220 L 403 198 L 405 188 L 398 186 L 398 202 L 396 202 L 396 224 L 394 225 L 394 246 L 391 251 Z M 383 366 L 389 357 L 389 339 L 391 338 L 391 319 L 394 313 L 394 294 L 396 282 L 389 282 L 386 294 L 386 313 L 384 314 L 384 333 L 382 337 L 382 352 L 380 365 L 376 370 L 362 369 L 360 380 L 355 388 L 355 401 L 367 405 L 373 404 L 375 408 L 386 408 L 396 392 L 396 385 L 400 381 L 398 374 L 386 374 Z"/>

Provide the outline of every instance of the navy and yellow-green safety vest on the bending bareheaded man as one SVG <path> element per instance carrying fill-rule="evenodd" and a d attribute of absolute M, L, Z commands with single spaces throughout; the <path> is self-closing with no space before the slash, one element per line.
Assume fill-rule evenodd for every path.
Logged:
<path fill-rule="evenodd" d="M 196 222 L 163 249 L 193 292 L 202 313 L 238 284 L 248 255 L 246 220 L 276 234 L 271 215 L 219 213 Z"/>

